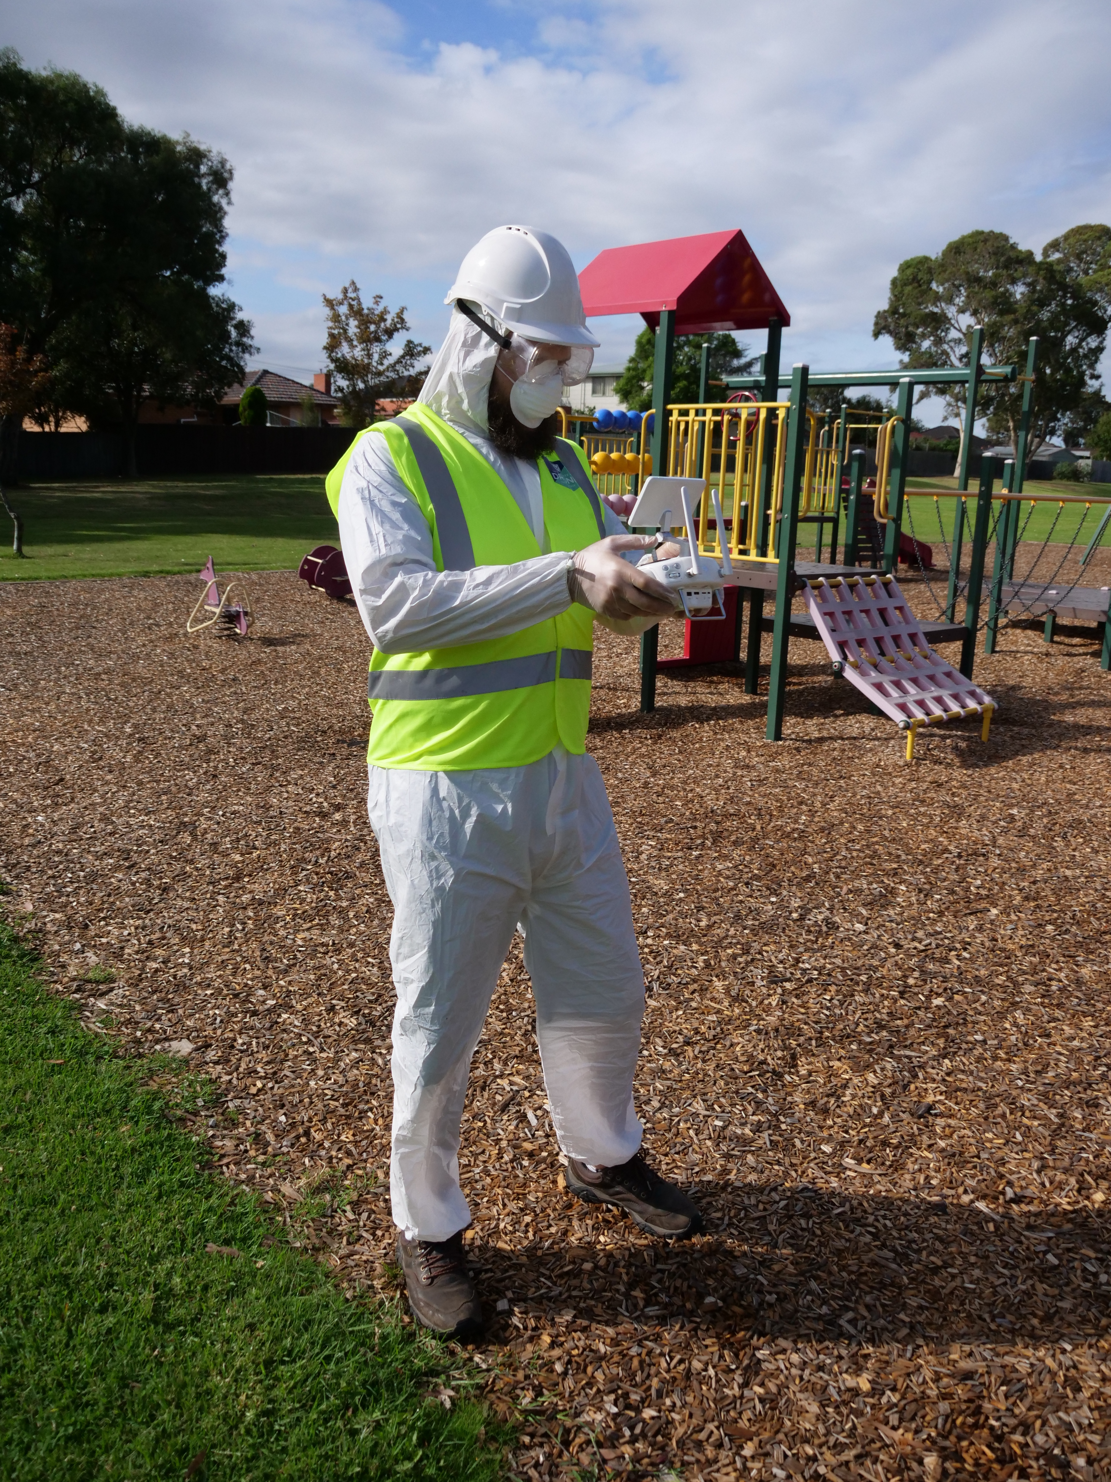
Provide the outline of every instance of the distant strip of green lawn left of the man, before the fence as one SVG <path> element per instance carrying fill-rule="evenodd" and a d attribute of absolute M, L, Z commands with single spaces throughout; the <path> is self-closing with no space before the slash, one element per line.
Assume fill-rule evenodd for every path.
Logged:
<path fill-rule="evenodd" d="M 200 571 L 209 556 L 216 571 L 287 571 L 314 545 L 339 544 L 313 474 L 39 483 L 9 501 L 27 554 L 12 554 L 0 510 L 0 581 L 154 576 Z"/>

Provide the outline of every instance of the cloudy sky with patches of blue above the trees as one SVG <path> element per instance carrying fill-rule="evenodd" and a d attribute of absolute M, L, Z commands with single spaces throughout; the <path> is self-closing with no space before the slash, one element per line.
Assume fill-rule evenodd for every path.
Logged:
<path fill-rule="evenodd" d="M 741 227 L 788 363 L 895 363 L 902 258 L 976 227 L 1111 221 L 1107 0 L 4 0 L 0 41 L 236 169 L 230 279 L 258 365 L 320 369 L 350 277 L 437 344 L 499 222 L 601 247 Z M 638 322 L 595 322 L 598 363 Z M 763 335 L 753 336 L 763 348 Z"/>

